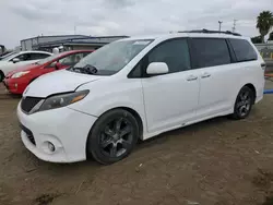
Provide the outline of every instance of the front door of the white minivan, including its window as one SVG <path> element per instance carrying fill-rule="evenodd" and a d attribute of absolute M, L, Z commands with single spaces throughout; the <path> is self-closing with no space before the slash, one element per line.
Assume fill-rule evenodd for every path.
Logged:
<path fill-rule="evenodd" d="M 155 47 L 145 64 L 165 62 L 169 73 L 142 79 L 149 132 L 193 120 L 199 98 L 198 71 L 191 70 L 188 40 L 171 39 Z"/>

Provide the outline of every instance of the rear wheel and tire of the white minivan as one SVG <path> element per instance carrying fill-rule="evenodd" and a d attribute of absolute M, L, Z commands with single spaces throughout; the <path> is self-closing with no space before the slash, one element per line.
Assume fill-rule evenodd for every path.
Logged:
<path fill-rule="evenodd" d="M 233 119 L 241 120 L 249 116 L 252 105 L 254 104 L 254 93 L 248 86 L 244 86 L 234 105 L 234 113 L 232 114 Z"/>

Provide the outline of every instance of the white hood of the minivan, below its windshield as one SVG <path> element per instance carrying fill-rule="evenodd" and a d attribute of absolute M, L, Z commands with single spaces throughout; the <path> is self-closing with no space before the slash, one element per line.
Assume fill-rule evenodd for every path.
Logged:
<path fill-rule="evenodd" d="M 47 97 L 52 94 L 73 92 L 85 83 L 94 82 L 105 76 L 87 75 L 67 70 L 45 74 L 28 85 L 23 96 Z"/>

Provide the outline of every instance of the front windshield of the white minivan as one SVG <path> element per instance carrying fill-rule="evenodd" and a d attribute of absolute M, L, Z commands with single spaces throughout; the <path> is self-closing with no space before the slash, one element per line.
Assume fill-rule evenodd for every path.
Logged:
<path fill-rule="evenodd" d="M 69 70 L 85 74 L 112 75 L 151 43 L 151 39 L 115 41 L 83 58 Z"/>

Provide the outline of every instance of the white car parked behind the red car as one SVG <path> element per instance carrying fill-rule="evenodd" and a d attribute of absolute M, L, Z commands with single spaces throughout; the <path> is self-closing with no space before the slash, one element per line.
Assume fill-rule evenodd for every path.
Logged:
<path fill-rule="evenodd" d="M 11 52 L 0 58 L 0 82 L 3 81 L 4 76 L 17 69 L 19 67 L 35 63 L 40 59 L 45 59 L 52 53 L 46 51 L 21 51 Z"/>

